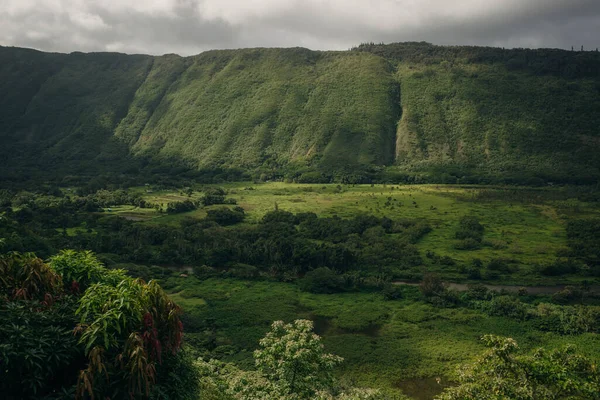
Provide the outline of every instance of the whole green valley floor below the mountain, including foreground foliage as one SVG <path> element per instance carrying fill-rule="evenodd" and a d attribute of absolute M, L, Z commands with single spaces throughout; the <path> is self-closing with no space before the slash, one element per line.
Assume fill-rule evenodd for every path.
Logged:
<path fill-rule="evenodd" d="M 586 398 L 583 390 L 595 390 L 597 377 L 586 369 L 600 357 L 600 229 L 592 188 L 118 186 L 0 191 L 0 251 L 35 251 L 48 261 L 13 253 L 3 260 L 12 260 L 12 270 L 47 265 L 61 282 L 52 307 L 38 306 L 50 300 L 41 296 L 19 308 L 15 304 L 23 300 L 6 291 L 2 359 L 11 362 L 5 372 L 27 382 L 16 387 L 17 378 L 11 378 L 3 383 L 7 393 L 85 398 L 82 390 L 90 382 L 98 395 L 129 393 L 134 385 L 133 396 L 141 398 L 248 400 L 290 398 L 293 392 L 299 399 L 421 400 L 494 385 L 485 371 L 499 362 L 529 379 L 523 387 L 550 392 L 562 383 L 548 380 L 546 372 L 531 380 L 530 368 L 534 363 L 553 371 L 553 360 L 581 361 L 568 364 L 567 372 L 580 379 L 571 394 Z M 147 318 L 147 300 L 136 300 L 136 293 L 147 298 L 152 288 L 158 290 L 155 279 L 170 296 L 158 302 L 182 310 L 186 347 L 176 355 L 167 350 L 164 321 Z M 448 280 L 470 284 L 457 288 Z M 541 292 L 501 286 L 541 282 L 570 285 Z M 121 299 L 134 311 L 122 310 Z M 99 325 L 106 320 L 114 327 L 120 313 L 135 322 L 120 333 Z M 306 362 L 319 366 L 321 356 L 335 356 L 316 375 L 301 369 L 307 386 L 298 389 L 289 379 L 298 364 L 281 361 L 287 353 L 277 349 L 281 341 L 312 337 L 308 322 L 288 325 L 306 319 L 314 321 L 326 349 L 302 339 L 320 352 Z M 277 320 L 284 323 L 269 334 Z M 43 340 L 32 340 L 33 332 Z M 503 361 L 489 353 L 473 364 L 486 334 L 514 338 L 522 354 Z M 29 339 L 17 341 L 17 335 Z M 120 357 L 133 354 L 130 338 L 138 336 L 143 351 L 135 354 L 150 361 L 150 373 L 132 379 Z M 578 351 L 563 350 L 566 344 Z M 99 347 L 107 350 L 93 350 Z M 546 353 L 531 352 L 538 347 Z M 40 369 L 21 361 L 27 351 L 57 358 Z M 344 362 L 333 362 L 337 357 Z M 98 374 L 100 362 L 108 381 Z M 454 374 L 461 364 L 469 365 L 467 375 Z M 52 379 L 57 370 L 66 378 Z M 25 380 L 31 376 L 36 379 Z M 504 376 L 499 384 L 514 387 L 511 379 Z M 444 392 L 449 384 L 460 385 Z"/>

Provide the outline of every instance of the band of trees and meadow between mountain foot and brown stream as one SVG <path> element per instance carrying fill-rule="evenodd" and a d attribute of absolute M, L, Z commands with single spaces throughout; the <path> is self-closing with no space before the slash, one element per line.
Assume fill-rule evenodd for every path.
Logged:
<path fill-rule="evenodd" d="M 572 198 L 593 199 L 588 192 L 522 189 L 486 200 L 497 190 L 244 186 L 4 190 L 0 237 L 6 251 L 49 257 L 63 248 L 92 250 L 126 269 L 194 266 L 206 276 L 303 278 L 306 287 L 314 277 L 319 286 L 336 276 L 315 291 L 356 289 L 367 278 L 368 285 L 418 280 L 424 271 L 515 284 L 577 284 L 600 274 L 596 203 Z M 322 204 L 332 212 L 312 211 Z"/>

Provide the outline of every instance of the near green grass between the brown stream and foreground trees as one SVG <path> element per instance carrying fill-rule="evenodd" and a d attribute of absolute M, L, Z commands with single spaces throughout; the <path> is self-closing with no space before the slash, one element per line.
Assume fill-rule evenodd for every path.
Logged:
<path fill-rule="evenodd" d="M 574 343 L 600 356 L 598 335 L 563 337 L 473 310 L 435 308 L 412 300 L 418 298 L 415 288 L 405 289 L 405 300 L 384 301 L 378 293 L 314 295 L 276 282 L 189 277 L 170 278 L 166 286 L 200 322 L 190 336 L 214 337 L 213 356 L 227 354 L 225 349 L 233 346 L 232 354 L 223 358 L 250 367 L 250 351 L 272 321 L 309 318 L 316 321 L 326 349 L 344 357 L 340 377 L 382 388 L 390 396 L 421 378 L 446 382 L 457 365 L 484 349 L 478 338 L 487 333 L 513 337 L 525 349 Z M 430 393 L 416 398 L 431 398 L 427 396 L 439 390 L 432 382 Z"/>

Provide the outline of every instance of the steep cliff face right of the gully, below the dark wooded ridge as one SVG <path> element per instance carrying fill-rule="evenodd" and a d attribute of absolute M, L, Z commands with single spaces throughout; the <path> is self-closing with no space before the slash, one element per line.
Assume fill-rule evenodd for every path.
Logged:
<path fill-rule="evenodd" d="M 507 72 L 498 65 L 402 66 L 396 164 L 459 165 L 543 176 L 596 169 L 594 80 Z"/>

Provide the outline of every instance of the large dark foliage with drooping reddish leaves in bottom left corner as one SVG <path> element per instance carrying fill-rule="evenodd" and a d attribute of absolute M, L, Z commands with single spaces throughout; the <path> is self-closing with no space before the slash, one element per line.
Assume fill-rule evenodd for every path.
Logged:
<path fill-rule="evenodd" d="M 12 377 L 0 384 L 10 396 L 75 385 L 78 398 L 148 396 L 163 378 L 156 366 L 177 357 L 181 310 L 156 281 L 107 270 L 89 251 L 61 251 L 50 265 L 12 253 L 0 266 L 0 367 Z"/>

